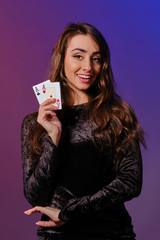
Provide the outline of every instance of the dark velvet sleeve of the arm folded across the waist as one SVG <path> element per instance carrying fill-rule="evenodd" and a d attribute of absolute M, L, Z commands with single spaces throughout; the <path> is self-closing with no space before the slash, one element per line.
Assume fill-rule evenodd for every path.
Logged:
<path fill-rule="evenodd" d="M 121 160 L 116 178 L 93 195 L 71 199 L 61 210 L 59 218 L 69 222 L 74 217 L 82 216 L 104 208 L 123 203 L 141 192 L 142 159 L 139 144 L 136 150 L 130 149 Z"/>

